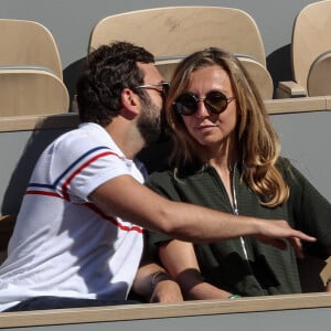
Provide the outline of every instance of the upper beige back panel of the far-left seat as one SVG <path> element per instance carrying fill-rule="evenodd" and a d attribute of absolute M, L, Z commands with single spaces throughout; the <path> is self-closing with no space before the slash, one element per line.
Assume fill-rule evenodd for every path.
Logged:
<path fill-rule="evenodd" d="M 43 24 L 0 19 L 0 66 L 41 66 L 63 79 L 56 42 Z"/>

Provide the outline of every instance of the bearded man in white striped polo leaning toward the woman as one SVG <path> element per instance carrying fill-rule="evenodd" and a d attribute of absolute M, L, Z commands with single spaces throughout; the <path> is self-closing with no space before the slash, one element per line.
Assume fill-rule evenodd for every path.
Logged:
<path fill-rule="evenodd" d="M 130 43 L 89 56 L 77 84 L 82 125 L 51 143 L 35 166 L 0 267 L 0 310 L 127 302 L 143 227 L 195 242 L 256 235 L 281 248 L 289 238 L 299 249 L 299 239 L 313 241 L 285 221 L 175 203 L 142 185 L 136 156 L 160 135 L 167 87 L 153 56 Z M 160 271 L 145 264 L 135 289 L 163 301 L 159 285 L 169 286 L 180 299 Z"/>

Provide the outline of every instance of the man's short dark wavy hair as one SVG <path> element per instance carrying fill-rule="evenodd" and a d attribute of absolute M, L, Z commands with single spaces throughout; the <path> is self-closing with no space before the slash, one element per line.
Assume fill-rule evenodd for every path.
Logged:
<path fill-rule="evenodd" d="M 143 84 L 137 62 L 153 63 L 154 57 L 143 47 L 127 42 L 102 45 L 87 56 L 76 86 L 81 122 L 105 127 L 119 114 L 122 89 Z M 142 94 L 139 89 L 137 93 Z"/>

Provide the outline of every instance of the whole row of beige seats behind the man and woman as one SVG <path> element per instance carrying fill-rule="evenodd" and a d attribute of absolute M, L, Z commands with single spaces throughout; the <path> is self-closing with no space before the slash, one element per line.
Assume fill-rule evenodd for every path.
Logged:
<path fill-rule="evenodd" d="M 311 3 L 297 15 L 291 42 L 293 81 L 276 87 L 256 22 L 235 8 L 168 7 L 110 15 L 93 29 L 88 52 L 113 41 L 130 41 L 151 51 L 160 72 L 170 79 L 183 56 L 220 46 L 238 56 L 264 99 L 331 95 L 330 17 L 331 0 Z M 57 45 L 47 28 L 2 19 L 0 31 L 0 116 L 66 113 L 68 92 Z"/>

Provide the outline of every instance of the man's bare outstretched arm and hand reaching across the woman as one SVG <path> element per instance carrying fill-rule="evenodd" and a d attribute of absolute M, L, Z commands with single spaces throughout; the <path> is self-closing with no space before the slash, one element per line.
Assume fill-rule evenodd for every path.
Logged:
<path fill-rule="evenodd" d="M 241 235 L 255 235 L 285 249 L 284 238 L 300 247 L 300 239 L 314 238 L 292 229 L 285 221 L 265 221 L 222 213 L 193 204 L 169 201 L 130 175 L 119 175 L 98 186 L 90 200 L 104 212 L 174 238 L 206 243 Z"/>

